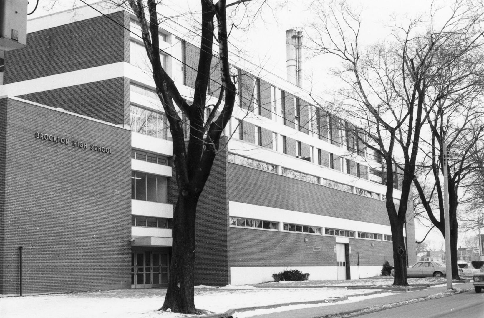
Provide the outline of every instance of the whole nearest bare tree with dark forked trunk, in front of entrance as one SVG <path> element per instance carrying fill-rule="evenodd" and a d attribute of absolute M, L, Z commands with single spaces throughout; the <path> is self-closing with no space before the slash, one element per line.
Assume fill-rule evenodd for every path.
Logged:
<path fill-rule="evenodd" d="M 196 313 L 194 303 L 195 219 L 197 202 L 210 175 L 213 160 L 221 145 L 221 136 L 229 122 L 236 99 L 228 60 L 227 8 L 246 6 L 250 0 L 212 2 L 201 0 L 200 50 L 193 101 L 184 99 L 175 82 L 162 67 L 159 49 L 160 16 L 157 0 L 123 1 L 135 13 L 144 45 L 151 63 L 156 92 L 166 113 L 173 140 L 173 165 L 178 185 L 178 200 L 173 213 L 173 248 L 170 277 L 161 310 Z M 118 3 L 121 1 L 118 1 Z M 263 3 L 264 1 L 262 1 Z M 257 6 L 259 7 L 259 2 Z M 233 13 L 231 13 L 233 14 Z M 220 59 L 220 91 L 218 100 L 207 105 L 207 89 L 211 78 L 213 43 L 218 44 Z M 209 108 L 210 106 L 210 108 Z M 210 109 L 207 113 L 207 109 Z M 189 140 L 185 142 L 184 119 L 189 121 Z"/>

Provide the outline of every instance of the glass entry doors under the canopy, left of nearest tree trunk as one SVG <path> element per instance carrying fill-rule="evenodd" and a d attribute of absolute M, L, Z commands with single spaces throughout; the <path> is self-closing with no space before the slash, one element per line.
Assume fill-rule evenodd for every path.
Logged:
<path fill-rule="evenodd" d="M 132 252 L 131 288 L 153 288 L 167 284 L 168 261 L 167 253 Z"/>

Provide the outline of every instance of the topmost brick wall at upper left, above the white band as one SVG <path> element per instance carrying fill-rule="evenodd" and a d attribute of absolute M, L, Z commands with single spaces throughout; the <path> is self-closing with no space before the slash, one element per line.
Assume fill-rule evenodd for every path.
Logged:
<path fill-rule="evenodd" d="M 129 29 L 129 14 L 108 15 Z M 3 83 L 129 62 L 129 31 L 105 16 L 27 35 L 27 46 L 5 52 Z"/>

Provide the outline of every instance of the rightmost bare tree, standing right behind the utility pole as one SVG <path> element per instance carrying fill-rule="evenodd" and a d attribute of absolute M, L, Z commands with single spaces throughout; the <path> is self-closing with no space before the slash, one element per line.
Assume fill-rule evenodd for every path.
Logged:
<path fill-rule="evenodd" d="M 475 56 L 475 58 L 479 57 L 480 55 Z M 454 279 L 459 278 L 457 267 L 457 208 L 461 201 L 466 200 L 464 196 L 459 196 L 459 189 L 466 185 L 469 173 L 472 173 L 475 169 L 470 159 L 475 155 L 477 142 L 484 137 L 484 113 L 479 109 L 479 97 L 483 93 L 484 86 L 481 77 L 484 76 L 484 70 L 476 69 L 476 65 L 476 63 L 471 62 L 469 65 L 462 65 L 461 63 L 459 66 L 452 67 L 455 73 L 459 70 L 458 76 L 463 81 L 454 81 L 452 87 L 447 86 L 445 89 L 454 93 L 439 100 L 437 107 L 430 113 L 428 123 L 432 136 L 422 141 L 423 149 L 428 149 L 428 151 L 422 151 L 424 160 L 418 169 L 419 171 L 416 172 L 417 177 L 414 179 L 415 188 L 419 193 L 428 219 L 445 237 L 441 153 L 443 142 L 446 142 L 451 149 L 451 154 L 448 156 L 447 173 L 451 237 L 450 253 Z M 445 80 L 444 82 L 451 81 Z M 434 93 L 439 94 L 440 89 L 439 87 Z"/>

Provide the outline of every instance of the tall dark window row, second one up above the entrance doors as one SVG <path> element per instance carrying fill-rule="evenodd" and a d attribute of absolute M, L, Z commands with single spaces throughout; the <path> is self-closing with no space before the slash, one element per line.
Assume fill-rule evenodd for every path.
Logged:
<path fill-rule="evenodd" d="M 131 171 L 131 198 L 166 203 L 166 177 Z"/>

